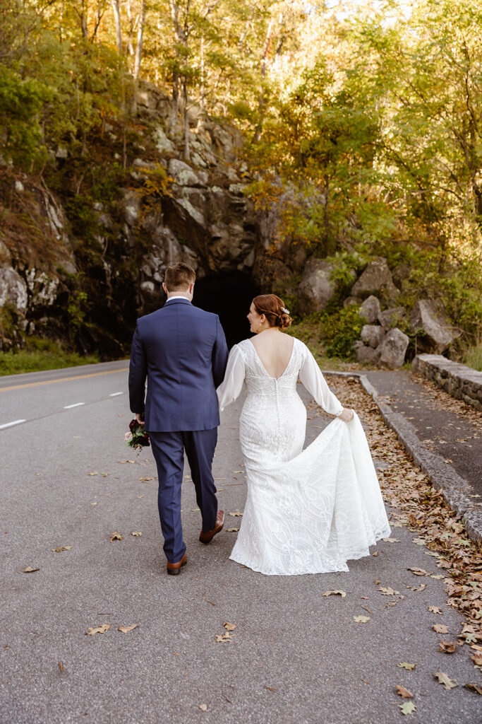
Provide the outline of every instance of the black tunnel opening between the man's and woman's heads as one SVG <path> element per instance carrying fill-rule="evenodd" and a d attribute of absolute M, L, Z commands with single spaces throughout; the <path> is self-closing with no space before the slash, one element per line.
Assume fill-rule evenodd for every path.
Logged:
<path fill-rule="evenodd" d="M 246 314 L 259 288 L 241 272 L 225 272 L 197 279 L 193 304 L 219 315 L 228 348 L 250 336 Z"/>

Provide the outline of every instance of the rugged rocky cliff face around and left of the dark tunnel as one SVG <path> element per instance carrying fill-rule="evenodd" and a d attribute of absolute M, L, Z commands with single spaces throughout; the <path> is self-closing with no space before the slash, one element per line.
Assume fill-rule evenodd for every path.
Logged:
<path fill-rule="evenodd" d="M 90 156 L 102 160 L 87 185 L 64 148 L 51 183 L 0 168 L 0 348 L 46 334 L 120 354 L 135 318 L 163 302 L 165 266 L 176 261 L 199 279 L 263 282 L 266 240 L 244 195 L 241 136 L 191 109 L 186 162 L 171 112 L 167 96 L 143 85 L 129 137 L 106 123 L 92 139 Z"/>

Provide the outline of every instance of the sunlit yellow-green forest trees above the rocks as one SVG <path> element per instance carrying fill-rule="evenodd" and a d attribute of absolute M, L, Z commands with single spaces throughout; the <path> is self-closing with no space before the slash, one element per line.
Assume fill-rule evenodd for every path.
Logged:
<path fill-rule="evenodd" d="M 0 0 L 0 143 L 48 175 L 149 81 L 246 140 L 259 208 L 318 256 L 410 266 L 481 334 L 482 0 Z M 358 255 L 358 257 L 357 257 Z"/>

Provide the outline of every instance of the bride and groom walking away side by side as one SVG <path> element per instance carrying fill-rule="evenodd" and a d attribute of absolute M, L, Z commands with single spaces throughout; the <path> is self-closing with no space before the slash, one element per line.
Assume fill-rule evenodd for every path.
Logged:
<path fill-rule="evenodd" d="M 254 298 L 247 316 L 255 337 L 228 354 L 218 316 L 191 304 L 194 283 L 187 264 L 168 266 L 167 301 L 137 320 L 129 366 L 131 411 L 139 422 L 145 417 L 158 468 L 167 572 L 176 575 L 187 562 L 184 452 L 202 515 L 199 541 L 208 544 L 223 529 L 212 458 L 219 413 L 244 385 L 239 437 L 247 497 L 231 559 L 267 575 L 348 571 L 347 560 L 369 555 L 370 545 L 390 535 L 358 416 L 330 392 L 306 345 L 283 334 L 291 319 L 279 297 Z M 305 450 L 298 379 L 335 416 Z"/>

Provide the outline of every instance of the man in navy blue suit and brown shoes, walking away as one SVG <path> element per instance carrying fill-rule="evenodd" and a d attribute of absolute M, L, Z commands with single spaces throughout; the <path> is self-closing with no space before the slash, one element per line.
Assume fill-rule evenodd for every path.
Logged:
<path fill-rule="evenodd" d="M 168 299 L 137 320 L 129 366 L 131 411 L 140 423 L 145 413 L 158 466 L 160 527 L 171 576 L 187 562 L 181 525 L 184 450 L 202 515 L 199 540 L 209 543 L 224 525 L 211 466 L 219 425 L 216 387 L 223 382 L 228 348 L 218 316 L 191 305 L 195 279 L 187 264 L 168 266 L 163 283 Z"/>

